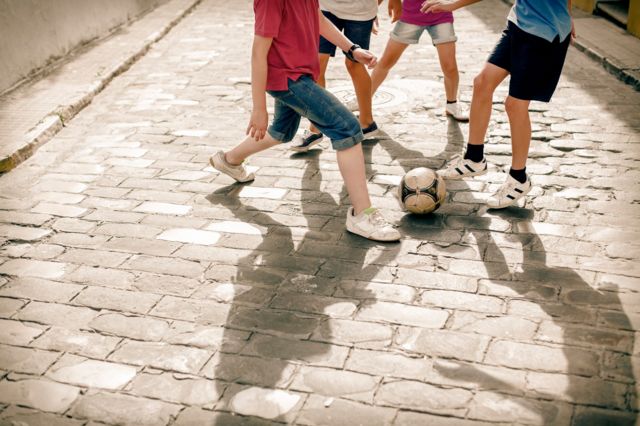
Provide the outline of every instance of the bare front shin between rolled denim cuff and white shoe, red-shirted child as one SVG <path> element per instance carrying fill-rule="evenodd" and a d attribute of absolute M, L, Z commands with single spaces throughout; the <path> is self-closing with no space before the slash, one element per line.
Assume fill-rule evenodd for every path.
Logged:
<path fill-rule="evenodd" d="M 364 209 L 371 207 L 362 145 L 357 144 L 351 148 L 337 151 L 337 157 L 338 167 L 349 193 L 349 200 L 354 213 L 358 215 Z"/>

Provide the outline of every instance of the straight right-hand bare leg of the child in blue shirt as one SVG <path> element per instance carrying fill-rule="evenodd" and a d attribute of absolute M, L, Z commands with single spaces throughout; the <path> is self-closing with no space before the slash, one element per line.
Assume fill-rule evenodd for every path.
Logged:
<path fill-rule="evenodd" d="M 511 128 L 511 167 L 516 170 L 524 169 L 529 156 L 531 144 L 531 121 L 529 119 L 529 103 L 522 99 L 507 96 L 504 108 L 509 116 Z"/>

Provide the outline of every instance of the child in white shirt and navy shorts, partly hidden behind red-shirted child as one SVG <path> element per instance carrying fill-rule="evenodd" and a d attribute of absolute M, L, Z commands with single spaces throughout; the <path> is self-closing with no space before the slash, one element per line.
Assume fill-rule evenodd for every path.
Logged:
<path fill-rule="evenodd" d="M 324 16 L 330 20 L 344 35 L 353 43 L 363 49 L 369 49 L 371 33 L 374 31 L 374 22 L 378 14 L 378 5 L 382 0 L 320 0 L 320 8 Z M 395 2 L 389 2 L 389 14 L 399 13 Z M 397 19 L 397 18 L 396 18 Z M 336 45 L 325 37 L 320 37 L 319 61 L 320 75 L 318 84 L 326 87 L 325 73 L 329 64 L 329 59 L 336 54 Z M 360 111 L 360 127 L 365 138 L 372 136 L 378 130 L 376 122 L 373 120 L 371 110 L 371 77 L 363 64 L 345 58 L 344 64 L 351 76 L 353 88 L 356 92 L 358 110 Z M 313 124 L 301 137 L 296 138 L 296 145 L 292 146 L 293 151 L 305 152 L 314 145 L 322 142 L 324 135 Z"/>

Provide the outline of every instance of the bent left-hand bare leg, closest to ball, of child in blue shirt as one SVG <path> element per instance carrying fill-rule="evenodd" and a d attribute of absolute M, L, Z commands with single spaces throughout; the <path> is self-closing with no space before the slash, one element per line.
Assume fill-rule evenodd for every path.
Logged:
<path fill-rule="evenodd" d="M 486 63 L 480 74 L 473 79 L 473 97 L 469 114 L 469 144 L 482 145 L 491 119 L 493 92 L 509 75 L 509 72 Z"/>

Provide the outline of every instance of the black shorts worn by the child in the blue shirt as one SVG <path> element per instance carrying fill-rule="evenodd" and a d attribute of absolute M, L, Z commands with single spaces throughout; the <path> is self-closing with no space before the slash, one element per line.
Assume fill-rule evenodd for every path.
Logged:
<path fill-rule="evenodd" d="M 509 96 L 549 102 L 556 90 L 571 35 L 549 42 L 509 21 L 488 62 L 511 73 Z"/>

